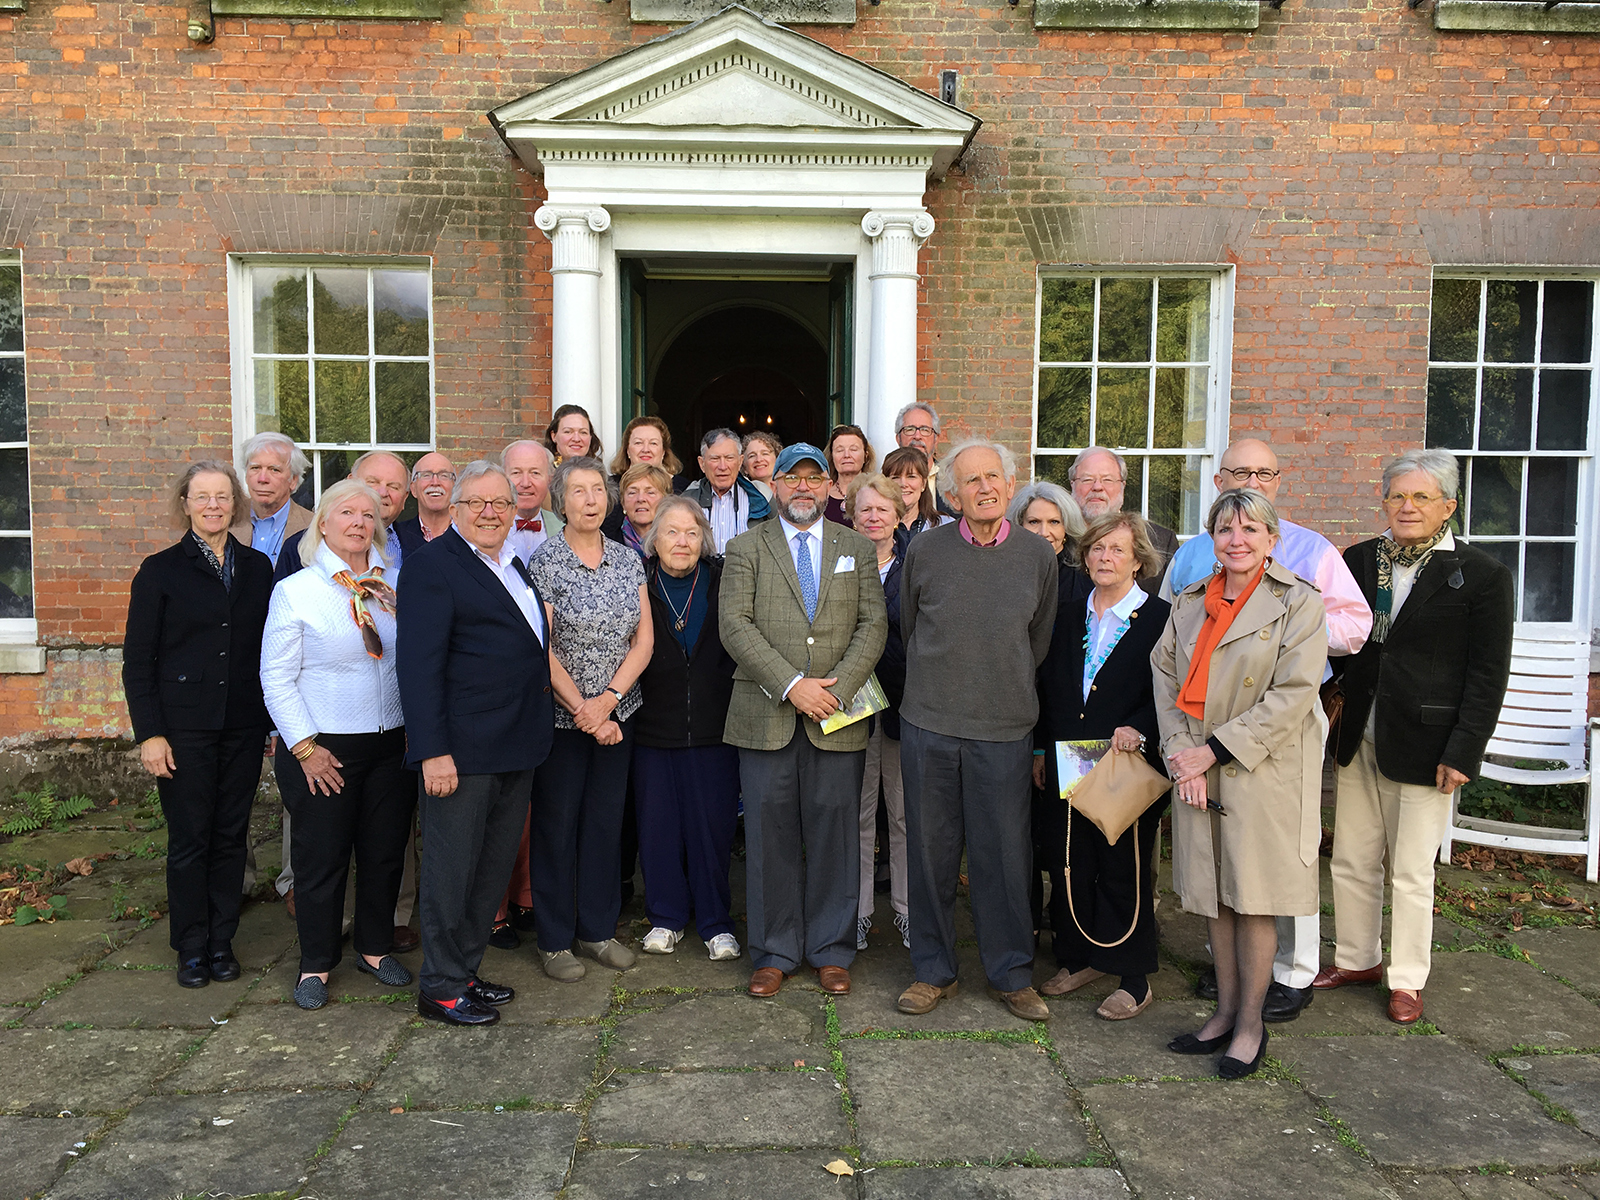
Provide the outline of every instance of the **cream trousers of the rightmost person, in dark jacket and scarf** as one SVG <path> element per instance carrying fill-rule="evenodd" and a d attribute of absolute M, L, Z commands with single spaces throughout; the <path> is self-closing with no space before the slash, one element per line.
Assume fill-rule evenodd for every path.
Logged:
<path fill-rule="evenodd" d="M 1339 768 L 1333 827 L 1333 962 L 1363 971 L 1382 962 L 1384 861 L 1390 899 L 1390 989 L 1422 990 L 1434 942 L 1434 861 L 1450 822 L 1450 795 L 1397 784 L 1378 770 L 1370 741 Z"/>

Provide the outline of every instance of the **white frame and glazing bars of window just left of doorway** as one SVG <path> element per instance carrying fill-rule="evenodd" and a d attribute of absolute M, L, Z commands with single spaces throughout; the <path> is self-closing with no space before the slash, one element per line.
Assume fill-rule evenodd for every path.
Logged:
<path fill-rule="evenodd" d="M 317 270 L 318 267 L 326 270 L 330 267 L 355 267 L 355 269 L 384 269 L 384 270 L 419 270 L 427 274 L 427 443 L 421 442 L 296 442 L 296 445 L 310 459 L 310 480 L 312 494 L 320 496 L 325 486 L 322 480 L 322 451 L 339 453 L 339 451 L 368 451 L 368 450 L 394 450 L 403 454 L 424 454 L 438 445 L 438 342 L 434 334 L 434 262 L 430 258 L 416 254 L 392 254 L 392 256 L 374 256 L 374 254 L 229 254 L 227 256 L 227 294 L 229 294 L 229 347 L 230 347 L 230 365 L 234 376 L 234 459 L 240 459 L 245 442 L 248 442 L 256 430 L 256 360 L 258 357 L 266 358 L 283 358 L 283 360 L 331 360 L 331 362 L 416 362 L 414 358 L 397 357 L 397 355 L 379 355 L 373 352 L 373 322 L 376 320 L 373 304 L 371 304 L 371 275 L 368 275 L 368 293 L 366 293 L 366 336 L 368 336 L 368 354 L 317 354 L 310 347 L 315 346 L 315 315 L 307 314 L 307 350 L 306 354 L 283 354 L 283 355 L 258 355 L 254 350 L 254 334 L 256 326 L 251 318 L 251 269 L 253 267 L 306 267 L 307 270 Z M 310 288 L 307 286 L 307 306 L 310 304 Z M 368 370 L 368 419 L 370 429 L 376 434 L 376 387 L 378 373 L 376 370 Z M 312 398 L 312 432 L 315 432 L 315 398 Z M 243 470 L 243 462 L 238 462 L 240 470 Z M 338 480 L 328 480 L 328 483 L 336 483 Z"/>

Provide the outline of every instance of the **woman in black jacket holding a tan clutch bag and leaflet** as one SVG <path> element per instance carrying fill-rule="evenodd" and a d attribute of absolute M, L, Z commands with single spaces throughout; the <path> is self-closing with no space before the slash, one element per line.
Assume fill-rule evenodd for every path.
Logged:
<path fill-rule="evenodd" d="M 1085 570 L 1070 571 L 1070 581 L 1062 571 L 1056 629 L 1038 669 L 1034 781 L 1048 797 L 1061 795 L 1058 741 L 1110 739 L 1118 749 L 1142 746 L 1146 760 L 1162 770 L 1150 651 L 1162 638 L 1171 608 L 1134 582 L 1158 578 L 1160 557 L 1150 546 L 1144 520 L 1122 512 L 1091 522 L 1078 538 L 1077 554 Z M 1046 842 L 1045 853 L 1054 893 L 1050 912 L 1059 971 L 1040 990 L 1066 995 L 1104 974 L 1122 976 L 1117 990 L 1096 1011 L 1107 1021 L 1125 1021 L 1149 1006 L 1152 994 L 1146 976 L 1158 970 L 1154 851 L 1166 798 L 1150 805 L 1115 846 L 1086 819 L 1072 821 L 1069 846 L 1067 803 L 1054 803 L 1059 832 Z M 1070 909 L 1064 880 L 1067 861 L 1072 864 Z"/>

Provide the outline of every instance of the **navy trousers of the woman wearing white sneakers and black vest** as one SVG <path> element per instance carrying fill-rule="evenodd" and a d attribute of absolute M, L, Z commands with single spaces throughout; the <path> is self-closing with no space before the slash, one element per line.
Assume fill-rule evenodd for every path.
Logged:
<path fill-rule="evenodd" d="M 634 747 L 645 915 L 699 936 L 733 933 L 728 856 L 739 813 L 739 752 L 731 746 Z"/>

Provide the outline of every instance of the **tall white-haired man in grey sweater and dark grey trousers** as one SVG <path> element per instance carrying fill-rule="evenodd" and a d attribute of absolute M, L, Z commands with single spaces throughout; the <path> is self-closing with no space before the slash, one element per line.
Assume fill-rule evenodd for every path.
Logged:
<path fill-rule="evenodd" d="M 1035 672 L 1056 621 L 1050 542 L 1005 518 L 1016 461 L 966 442 L 941 474 L 963 518 L 922 533 L 901 574 L 910 960 L 902 1013 L 931 1013 L 955 994 L 955 883 L 966 848 L 978 954 L 989 986 L 1027 1021 L 1050 1010 L 1032 987 L 1029 883 Z"/>

